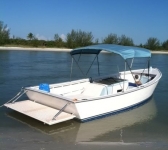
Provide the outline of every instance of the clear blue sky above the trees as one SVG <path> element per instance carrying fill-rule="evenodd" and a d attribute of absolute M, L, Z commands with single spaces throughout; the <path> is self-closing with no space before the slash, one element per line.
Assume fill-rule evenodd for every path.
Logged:
<path fill-rule="evenodd" d="M 168 0 L 0 0 L 0 21 L 10 35 L 63 39 L 72 29 L 92 32 L 99 42 L 109 34 L 126 35 L 134 44 L 155 37 L 168 40 Z"/>

